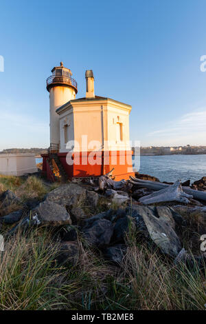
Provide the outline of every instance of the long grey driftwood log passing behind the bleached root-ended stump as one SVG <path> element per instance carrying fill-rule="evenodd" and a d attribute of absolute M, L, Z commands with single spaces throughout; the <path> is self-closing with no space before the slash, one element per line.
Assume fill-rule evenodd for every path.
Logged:
<path fill-rule="evenodd" d="M 170 186 L 166 183 L 136 179 L 133 176 L 130 176 L 130 183 L 137 185 L 139 188 L 148 188 L 151 190 L 161 190 L 164 188 L 168 188 Z M 194 199 L 206 201 L 206 192 L 190 189 L 188 187 L 182 187 L 182 188 L 183 188 L 183 192 L 185 192 L 186 194 L 191 194 Z"/>

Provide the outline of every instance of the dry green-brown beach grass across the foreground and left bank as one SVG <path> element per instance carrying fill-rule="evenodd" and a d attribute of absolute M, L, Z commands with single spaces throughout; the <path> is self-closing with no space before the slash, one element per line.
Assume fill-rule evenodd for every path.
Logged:
<path fill-rule="evenodd" d="M 12 190 L 22 200 L 41 199 L 58 184 L 42 179 L 0 177 L 0 190 Z M 105 207 L 98 205 L 98 212 Z M 10 205 L 10 210 L 19 205 Z M 85 206 L 88 213 L 89 206 Z M 8 213 L 0 207 L 1 216 Z M 186 218 L 188 215 L 183 214 Z M 191 248 L 200 216 L 192 216 L 190 230 L 181 233 Z M 76 264 L 58 265 L 60 242 L 52 230 L 38 227 L 9 236 L 3 226 L 5 252 L 0 252 L 1 310 L 205 310 L 206 273 L 198 266 L 186 267 L 161 254 L 152 243 L 139 241 L 133 227 L 126 236 L 122 263 L 109 263 L 102 252 L 89 246 L 78 233 L 80 256 Z"/>

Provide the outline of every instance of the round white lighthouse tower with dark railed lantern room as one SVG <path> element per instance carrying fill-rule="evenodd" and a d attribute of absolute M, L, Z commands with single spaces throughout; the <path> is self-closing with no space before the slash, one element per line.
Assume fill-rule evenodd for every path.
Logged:
<path fill-rule="evenodd" d="M 50 145 L 60 146 L 60 123 L 56 110 L 72 99 L 76 99 L 77 83 L 71 78 L 71 70 L 63 63 L 52 69 L 52 76 L 47 79 L 50 112 Z"/>

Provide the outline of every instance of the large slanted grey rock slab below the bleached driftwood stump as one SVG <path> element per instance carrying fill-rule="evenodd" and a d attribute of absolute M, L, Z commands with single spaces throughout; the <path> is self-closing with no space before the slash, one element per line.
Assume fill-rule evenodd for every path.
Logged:
<path fill-rule="evenodd" d="M 181 251 L 179 237 L 174 232 L 174 219 L 170 208 L 166 206 L 134 206 L 150 234 L 150 238 L 163 251 L 176 257 Z"/>

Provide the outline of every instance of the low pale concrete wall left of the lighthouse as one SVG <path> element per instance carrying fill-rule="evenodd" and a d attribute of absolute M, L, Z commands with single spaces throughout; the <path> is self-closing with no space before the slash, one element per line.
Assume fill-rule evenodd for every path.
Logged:
<path fill-rule="evenodd" d="M 0 154 L 0 174 L 23 176 L 37 172 L 35 154 Z"/>

